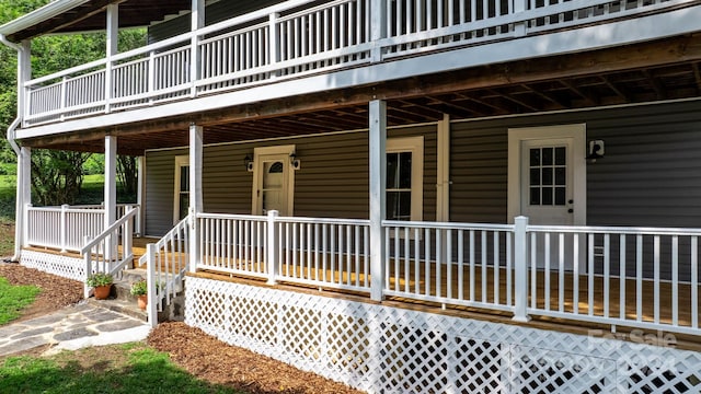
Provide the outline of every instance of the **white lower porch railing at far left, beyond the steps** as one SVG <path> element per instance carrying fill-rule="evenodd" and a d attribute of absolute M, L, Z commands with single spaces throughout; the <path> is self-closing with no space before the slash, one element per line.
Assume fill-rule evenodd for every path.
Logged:
<path fill-rule="evenodd" d="M 135 209 L 136 208 L 136 209 Z M 140 210 L 137 205 L 120 204 L 116 217 L 123 218 L 135 209 L 136 220 Z M 58 248 L 78 252 L 83 247 L 84 237 L 93 239 L 104 229 L 104 206 L 25 207 L 25 246 Z M 138 224 L 137 224 L 138 225 Z M 130 234 L 133 235 L 133 234 Z"/>

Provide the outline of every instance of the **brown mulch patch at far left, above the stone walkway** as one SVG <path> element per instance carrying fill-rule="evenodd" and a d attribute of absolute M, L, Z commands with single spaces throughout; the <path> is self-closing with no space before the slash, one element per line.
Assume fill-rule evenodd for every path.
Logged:
<path fill-rule="evenodd" d="M 33 285 L 42 290 L 14 322 L 42 316 L 83 299 L 82 282 L 26 268 L 16 263 L 0 263 L 0 277 L 7 278 L 10 285 Z"/>

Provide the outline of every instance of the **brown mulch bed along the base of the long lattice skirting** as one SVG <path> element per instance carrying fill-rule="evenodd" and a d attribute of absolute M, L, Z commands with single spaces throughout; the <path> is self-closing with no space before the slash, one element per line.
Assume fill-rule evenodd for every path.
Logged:
<path fill-rule="evenodd" d="M 360 393 L 311 372 L 229 346 L 184 323 L 162 323 L 147 339 L 191 374 L 246 393 Z"/>

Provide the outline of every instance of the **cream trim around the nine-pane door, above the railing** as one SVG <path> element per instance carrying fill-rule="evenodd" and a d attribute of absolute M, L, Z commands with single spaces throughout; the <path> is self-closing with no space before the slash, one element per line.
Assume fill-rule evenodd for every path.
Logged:
<path fill-rule="evenodd" d="M 575 200 L 573 221 L 585 225 L 587 218 L 587 171 L 586 171 L 586 124 L 525 127 L 508 129 L 508 197 L 507 221 L 521 215 L 521 141 L 533 139 L 572 139 L 574 179 L 572 182 Z"/>

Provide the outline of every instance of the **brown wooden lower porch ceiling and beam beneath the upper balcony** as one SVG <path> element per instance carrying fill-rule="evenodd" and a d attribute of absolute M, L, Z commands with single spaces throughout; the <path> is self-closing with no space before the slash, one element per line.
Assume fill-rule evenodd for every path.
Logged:
<path fill-rule="evenodd" d="M 487 65 L 449 73 L 25 140 L 33 147 L 103 151 L 105 132 L 123 154 L 186 147 L 187 126 L 205 143 L 364 129 L 367 103 L 388 102 L 388 125 L 593 108 L 701 96 L 701 35 L 591 53 Z"/>

